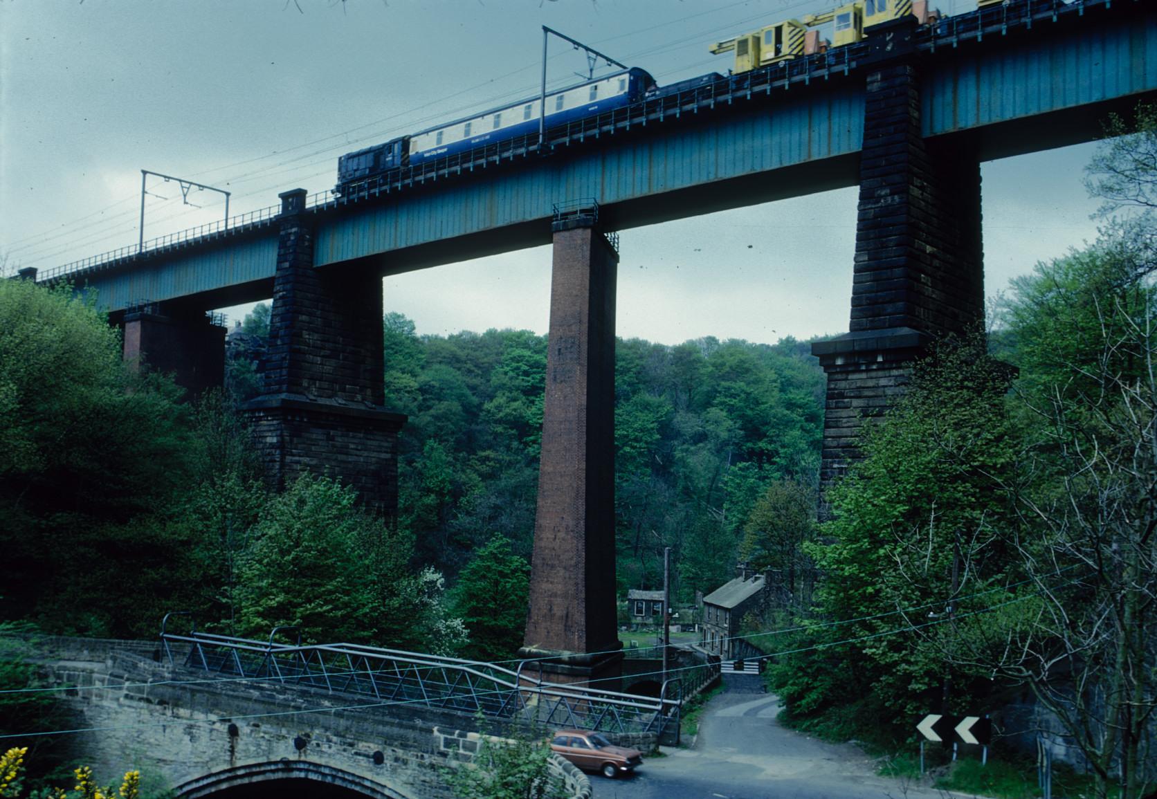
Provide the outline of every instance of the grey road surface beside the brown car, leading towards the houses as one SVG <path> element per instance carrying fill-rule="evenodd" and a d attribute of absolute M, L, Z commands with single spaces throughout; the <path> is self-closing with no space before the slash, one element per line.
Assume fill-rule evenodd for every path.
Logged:
<path fill-rule="evenodd" d="M 724 675 L 690 748 L 664 748 L 639 774 L 590 778 L 594 799 L 944 799 L 876 776 L 850 745 L 825 743 L 781 726 L 779 701 L 759 678 Z"/>

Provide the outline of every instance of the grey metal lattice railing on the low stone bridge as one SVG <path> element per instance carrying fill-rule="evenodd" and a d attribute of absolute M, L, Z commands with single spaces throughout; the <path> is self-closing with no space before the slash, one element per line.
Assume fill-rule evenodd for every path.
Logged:
<path fill-rule="evenodd" d="M 668 680 L 658 697 L 635 696 L 544 680 L 539 664 L 516 668 L 361 644 L 301 644 L 162 629 L 172 665 L 223 679 L 277 682 L 371 697 L 368 706 L 421 705 L 551 727 L 609 733 L 655 733 L 678 739 L 681 683 Z"/>

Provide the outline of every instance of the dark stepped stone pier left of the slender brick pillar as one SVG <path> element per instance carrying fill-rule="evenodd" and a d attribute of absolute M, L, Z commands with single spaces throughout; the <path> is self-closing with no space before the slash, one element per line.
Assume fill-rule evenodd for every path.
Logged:
<path fill-rule="evenodd" d="M 281 488 L 305 471 L 325 474 L 396 518 L 406 417 L 383 407 L 381 278 L 315 269 L 304 190 L 281 202 L 264 393 L 245 406 L 266 475 Z"/>

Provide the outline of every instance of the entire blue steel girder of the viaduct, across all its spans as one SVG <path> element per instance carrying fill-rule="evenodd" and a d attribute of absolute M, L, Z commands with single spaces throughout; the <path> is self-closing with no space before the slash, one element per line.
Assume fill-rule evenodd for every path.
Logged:
<path fill-rule="evenodd" d="M 981 157 L 1000 157 L 1089 140 L 1107 110 L 1157 96 L 1154 5 L 1088 2 L 1057 22 L 921 45 L 924 134 L 971 139 Z M 329 202 L 309 212 L 315 265 L 361 262 L 389 274 L 546 244 L 553 204 L 578 197 L 598 200 L 604 227 L 624 229 L 855 185 L 871 68 L 853 62 L 846 75 L 765 80 L 730 96 L 713 89 L 695 112 L 644 114 L 647 124 L 611 126 L 613 134 L 575 138 L 545 156 L 447 169 L 378 197 Z M 213 308 L 271 296 L 275 261 L 268 225 L 115 261 L 75 281 L 113 312 L 190 296 Z"/>

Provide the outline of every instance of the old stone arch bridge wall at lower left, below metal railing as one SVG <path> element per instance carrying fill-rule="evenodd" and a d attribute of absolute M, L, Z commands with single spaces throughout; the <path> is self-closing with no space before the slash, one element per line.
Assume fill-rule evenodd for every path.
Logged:
<path fill-rule="evenodd" d="M 67 754 L 103 782 L 140 769 L 179 799 L 283 779 L 449 799 L 445 771 L 470 762 L 481 740 L 459 713 L 206 676 L 162 661 L 154 642 L 40 638 L 34 651 L 47 682 L 67 687 L 79 730 L 61 737 Z M 589 799 L 585 775 L 561 760 L 552 769 L 568 796 Z"/>

